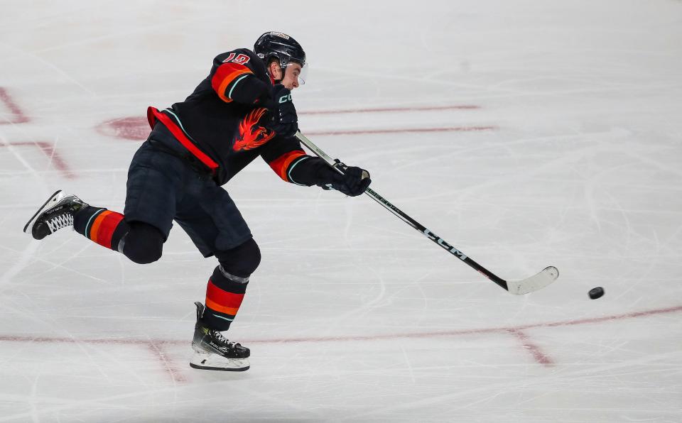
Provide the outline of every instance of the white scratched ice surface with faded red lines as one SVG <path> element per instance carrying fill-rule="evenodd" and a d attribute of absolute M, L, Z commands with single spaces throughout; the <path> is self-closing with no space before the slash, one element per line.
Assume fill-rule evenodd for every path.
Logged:
<path fill-rule="evenodd" d="M 0 3 L 0 422 L 682 422 L 682 1 Z M 56 189 L 122 211 L 148 105 L 265 31 L 308 53 L 303 133 L 501 278 L 367 196 L 226 185 L 261 246 L 188 366 L 217 264 L 177 225 L 136 265 L 23 225 Z M 605 296 L 588 298 L 601 286 Z"/>

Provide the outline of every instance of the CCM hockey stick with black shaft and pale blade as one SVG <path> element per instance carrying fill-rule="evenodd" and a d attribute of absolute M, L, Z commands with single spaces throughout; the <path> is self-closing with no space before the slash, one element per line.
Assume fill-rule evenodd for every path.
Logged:
<path fill-rule="evenodd" d="M 315 153 L 315 155 L 325 160 L 325 162 L 331 167 L 333 167 L 335 170 L 337 170 L 337 172 L 343 174 L 343 171 L 339 167 L 339 165 L 341 164 L 339 160 L 334 160 L 330 158 L 330 156 L 327 155 L 327 153 L 325 153 L 323 150 L 320 150 L 320 148 L 317 145 L 313 144 L 313 141 L 310 141 L 308 137 L 304 136 L 301 132 L 296 133 L 296 138 L 298 138 L 298 141 L 301 141 L 303 145 L 308 147 L 310 151 Z M 526 278 L 524 280 L 507 281 L 502 278 L 499 278 L 497 275 L 494 275 L 494 273 L 492 273 L 490 270 L 487 270 L 482 265 L 476 263 L 474 260 L 472 260 L 472 258 L 467 256 L 465 253 L 459 251 L 457 248 L 455 248 L 455 246 L 451 245 L 450 243 L 446 242 L 443 238 L 440 238 L 440 236 L 426 229 L 426 226 L 423 226 L 418 221 L 412 219 L 410 216 L 402 212 L 401 209 L 395 207 L 387 199 L 377 194 L 377 192 L 374 191 L 373 189 L 367 188 L 367 190 L 364 193 L 369 195 L 369 197 L 371 197 L 375 202 L 381 204 L 381 206 L 383 206 L 389 212 L 398 216 L 399 219 L 404 221 L 406 224 L 412 226 L 414 229 L 421 232 L 421 234 L 429 238 L 434 243 L 437 243 L 440 247 L 445 249 L 445 251 L 448 251 L 448 253 L 459 258 L 464 263 L 467 263 L 467 265 L 470 265 L 470 267 L 477 270 L 478 273 L 484 275 L 489 280 L 492 280 L 493 282 L 497 283 L 497 285 L 503 287 L 511 294 L 524 295 L 528 294 L 529 292 L 537 291 L 551 284 L 556 280 L 556 278 L 559 277 L 559 270 L 554 266 L 548 266 L 541 270 L 541 272 L 538 273 L 537 275 L 533 275 L 530 278 Z"/>

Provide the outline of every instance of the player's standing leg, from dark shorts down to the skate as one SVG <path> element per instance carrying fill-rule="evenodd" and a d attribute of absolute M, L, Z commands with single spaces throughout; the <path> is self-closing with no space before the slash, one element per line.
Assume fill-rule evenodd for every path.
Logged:
<path fill-rule="evenodd" d="M 193 368 L 247 370 L 249 348 L 224 338 L 242 304 L 260 250 L 229 194 L 212 182 L 197 189 L 197 197 L 178 204 L 176 221 L 205 257 L 219 265 L 210 276 L 205 304 L 197 305 L 197 324 L 190 361 Z M 200 198 L 200 199 L 199 199 Z"/>

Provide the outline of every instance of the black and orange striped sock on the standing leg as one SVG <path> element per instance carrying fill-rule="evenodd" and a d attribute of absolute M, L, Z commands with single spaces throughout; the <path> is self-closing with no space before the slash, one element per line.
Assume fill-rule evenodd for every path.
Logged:
<path fill-rule="evenodd" d="M 217 266 L 206 287 L 204 322 L 212 329 L 227 331 L 242 305 L 248 284 L 249 278 L 230 275 Z"/>

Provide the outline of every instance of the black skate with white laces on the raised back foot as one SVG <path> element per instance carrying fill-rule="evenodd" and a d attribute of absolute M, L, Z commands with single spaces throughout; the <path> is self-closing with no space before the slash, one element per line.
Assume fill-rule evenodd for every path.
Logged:
<path fill-rule="evenodd" d="M 87 204 L 75 195 L 64 194 L 60 189 L 33 214 L 23 231 L 31 229 L 31 235 L 43 239 L 66 226 L 73 226 L 73 215 Z"/>

